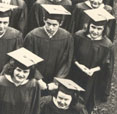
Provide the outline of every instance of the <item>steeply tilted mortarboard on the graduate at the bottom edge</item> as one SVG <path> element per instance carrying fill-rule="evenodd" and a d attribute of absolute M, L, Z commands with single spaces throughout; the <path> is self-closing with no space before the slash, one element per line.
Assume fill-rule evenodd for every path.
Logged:
<path fill-rule="evenodd" d="M 63 79 L 63 78 L 54 78 L 55 82 L 58 82 L 58 84 L 60 84 L 60 86 L 62 86 L 61 89 L 65 90 L 69 90 L 69 91 L 85 91 L 82 87 L 80 87 L 78 84 L 76 84 L 75 82 L 73 82 L 70 79 Z"/>

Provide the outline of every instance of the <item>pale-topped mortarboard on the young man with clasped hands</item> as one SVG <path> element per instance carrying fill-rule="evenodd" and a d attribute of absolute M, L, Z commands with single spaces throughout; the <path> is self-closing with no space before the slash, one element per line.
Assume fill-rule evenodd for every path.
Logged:
<path fill-rule="evenodd" d="M 62 5 L 41 4 L 41 6 L 51 15 L 71 15 Z"/>

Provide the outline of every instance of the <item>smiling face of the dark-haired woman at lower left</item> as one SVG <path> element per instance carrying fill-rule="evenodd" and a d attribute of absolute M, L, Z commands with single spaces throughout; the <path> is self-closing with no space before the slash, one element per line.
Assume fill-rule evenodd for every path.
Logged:
<path fill-rule="evenodd" d="M 16 67 L 14 70 L 14 81 L 16 83 L 24 82 L 30 74 L 30 69 L 23 70 L 19 67 Z"/>

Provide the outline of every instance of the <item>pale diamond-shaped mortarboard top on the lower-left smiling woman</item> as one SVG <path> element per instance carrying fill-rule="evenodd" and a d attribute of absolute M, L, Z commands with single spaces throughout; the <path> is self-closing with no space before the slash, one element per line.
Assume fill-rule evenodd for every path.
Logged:
<path fill-rule="evenodd" d="M 14 60 L 17 62 L 23 64 L 26 67 L 33 66 L 41 61 L 43 61 L 42 58 L 39 56 L 35 55 L 31 51 L 25 49 L 25 48 L 20 48 L 15 51 L 7 53 L 10 57 L 12 57 Z"/>

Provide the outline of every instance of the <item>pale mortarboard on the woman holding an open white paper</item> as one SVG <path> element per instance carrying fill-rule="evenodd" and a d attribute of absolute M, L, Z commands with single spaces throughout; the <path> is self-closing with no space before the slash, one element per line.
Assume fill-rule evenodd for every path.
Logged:
<path fill-rule="evenodd" d="M 115 17 L 104 8 L 84 10 L 84 13 L 87 14 L 95 23 L 107 22 L 109 20 L 115 19 Z"/>

